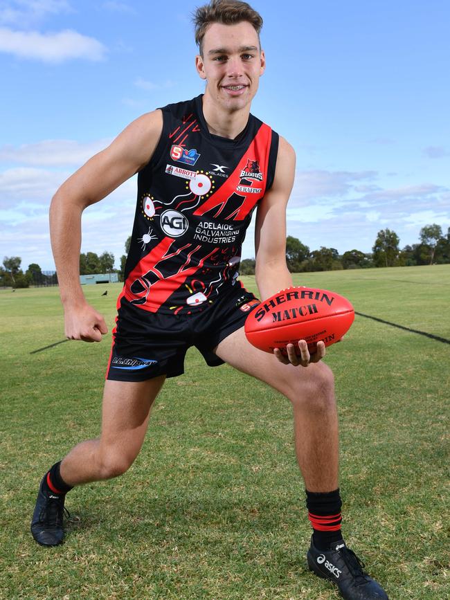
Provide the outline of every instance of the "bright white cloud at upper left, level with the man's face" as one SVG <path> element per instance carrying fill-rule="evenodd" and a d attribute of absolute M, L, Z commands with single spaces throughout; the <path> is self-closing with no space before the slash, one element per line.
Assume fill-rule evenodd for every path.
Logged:
<path fill-rule="evenodd" d="M 60 63 L 74 58 L 102 60 L 106 47 L 93 37 L 69 29 L 57 33 L 39 33 L 0 28 L 0 52 L 18 58 Z"/>

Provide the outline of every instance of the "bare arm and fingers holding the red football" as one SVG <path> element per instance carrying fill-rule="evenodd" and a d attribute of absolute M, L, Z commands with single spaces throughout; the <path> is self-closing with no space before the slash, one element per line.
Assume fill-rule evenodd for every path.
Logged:
<path fill-rule="evenodd" d="M 294 149 L 280 137 L 275 179 L 256 215 L 255 274 L 262 299 L 292 285 L 286 264 L 286 207 L 294 185 L 295 167 Z M 275 349 L 273 354 L 282 363 L 306 367 L 325 356 L 325 345 L 319 342 L 316 353 L 310 356 L 307 343 L 300 340 L 298 349 L 293 344 L 287 345 L 287 357 L 279 349 Z"/>

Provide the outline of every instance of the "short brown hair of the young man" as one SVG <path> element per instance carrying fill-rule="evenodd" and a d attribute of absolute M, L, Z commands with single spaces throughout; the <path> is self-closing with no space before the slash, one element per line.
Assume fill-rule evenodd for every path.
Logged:
<path fill-rule="evenodd" d="M 199 6 L 192 15 L 195 24 L 195 42 L 199 46 L 199 52 L 203 55 L 203 38 L 206 30 L 213 23 L 222 23 L 223 25 L 234 25 L 242 21 L 248 21 L 258 33 L 260 39 L 260 30 L 262 28 L 262 17 L 259 12 L 253 10 L 246 2 L 238 0 L 211 0 L 209 4 Z M 260 43 L 261 46 L 261 43 Z"/>

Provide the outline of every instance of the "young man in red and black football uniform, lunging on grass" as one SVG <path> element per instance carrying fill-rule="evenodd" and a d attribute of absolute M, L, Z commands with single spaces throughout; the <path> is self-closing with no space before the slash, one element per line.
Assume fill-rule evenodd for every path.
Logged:
<path fill-rule="evenodd" d="M 264 73 L 262 19 L 248 4 L 216 0 L 195 16 L 197 73 L 203 96 L 170 104 L 132 122 L 57 191 L 51 238 L 66 336 L 100 341 L 102 316 L 79 282 L 82 210 L 138 172 L 138 201 L 118 299 L 99 439 L 75 446 L 44 475 L 33 515 L 35 540 L 62 542 L 65 494 L 74 486 L 125 473 L 141 449 L 150 408 L 166 377 L 183 372 L 195 345 L 208 365 L 226 362 L 269 383 L 294 409 L 296 455 L 314 534 L 309 567 L 343 597 L 386 599 L 341 535 L 338 426 L 333 377 L 305 341 L 288 357 L 255 349 L 244 320 L 258 300 L 237 281 L 251 213 L 256 281 L 262 298 L 291 286 L 285 261 L 285 212 L 295 155 L 286 140 L 250 114 Z"/>

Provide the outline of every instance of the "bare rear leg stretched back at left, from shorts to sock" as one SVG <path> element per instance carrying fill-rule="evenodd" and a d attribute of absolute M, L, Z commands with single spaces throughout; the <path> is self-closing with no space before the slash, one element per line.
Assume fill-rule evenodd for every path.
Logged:
<path fill-rule="evenodd" d="M 105 382 L 102 431 L 73 448 L 62 460 L 60 473 L 70 486 L 109 479 L 125 473 L 141 450 L 150 409 L 165 376 L 147 381 Z"/>

